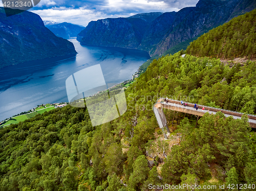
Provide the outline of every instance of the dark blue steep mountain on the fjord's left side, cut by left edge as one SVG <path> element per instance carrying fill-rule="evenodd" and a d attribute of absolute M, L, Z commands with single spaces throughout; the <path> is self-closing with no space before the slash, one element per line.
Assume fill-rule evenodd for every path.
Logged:
<path fill-rule="evenodd" d="M 25 61 L 75 55 L 72 42 L 56 37 L 32 12 L 6 17 L 0 8 L 0 68 Z"/>

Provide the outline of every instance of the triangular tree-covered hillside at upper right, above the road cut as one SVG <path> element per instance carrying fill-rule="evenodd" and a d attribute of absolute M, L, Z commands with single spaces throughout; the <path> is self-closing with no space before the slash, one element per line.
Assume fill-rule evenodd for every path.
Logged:
<path fill-rule="evenodd" d="M 195 56 L 233 59 L 256 57 L 256 10 L 200 36 L 190 43 L 186 52 Z"/>

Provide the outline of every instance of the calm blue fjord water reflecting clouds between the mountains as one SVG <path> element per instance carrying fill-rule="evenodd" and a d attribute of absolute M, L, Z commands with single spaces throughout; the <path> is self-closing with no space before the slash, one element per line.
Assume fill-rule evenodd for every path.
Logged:
<path fill-rule="evenodd" d="M 0 69 L 0 121 L 37 105 L 68 102 L 66 80 L 81 69 L 100 64 L 106 83 L 120 83 L 131 79 L 150 58 L 144 51 L 82 46 L 75 38 L 69 40 L 78 52 L 73 58 L 44 59 Z"/>

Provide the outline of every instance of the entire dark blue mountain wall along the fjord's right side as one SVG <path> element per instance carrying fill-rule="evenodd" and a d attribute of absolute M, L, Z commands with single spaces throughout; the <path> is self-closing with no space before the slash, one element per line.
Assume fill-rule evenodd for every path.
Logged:
<path fill-rule="evenodd" d="M 81 44 L 130 47 L 145 50 L 151 56 L 161 55 L 255 8 L 253 0 L 200 0 L 196 7 L 164 13 L 154 20 L 138 14 L 133 16 L 139 19 L 136 22 L 131 17 L 93 21 L 77 39 Z"/>

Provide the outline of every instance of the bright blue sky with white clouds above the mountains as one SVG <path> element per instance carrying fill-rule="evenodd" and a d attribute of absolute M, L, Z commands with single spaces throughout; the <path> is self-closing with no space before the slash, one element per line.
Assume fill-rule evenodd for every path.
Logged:
<path fill-rule="evenodd" d="M 179 11 L 199 0 L 41 0 L 30 11 L 43 20 L 87 26 L 91 20 L 128 17 L 137 13 Z M 2 3 L 2 2 L 1 2 Z M 1 6 L 1 5 L 0 5 Z"/>

